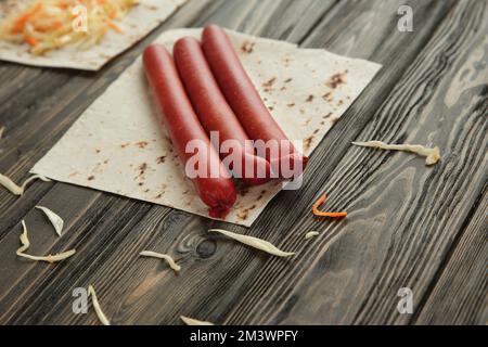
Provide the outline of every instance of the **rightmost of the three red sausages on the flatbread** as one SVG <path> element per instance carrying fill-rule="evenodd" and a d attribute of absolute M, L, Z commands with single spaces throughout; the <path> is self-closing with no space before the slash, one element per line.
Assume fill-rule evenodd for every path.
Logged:
<path fill-rule="evenodd" d="M 249 138 L 264 140 L 265 142 L 283 141 L 290 145 L 286 151 L 280 151 L 275 154 L 267 153 L 266 158 L 270 162 L 272 168 L 275 169 L 277 165 L 281 168 L 282 162 L 287 162 L 291 169 L 299 167 L 305 169 L 308 157 L 293 146 L 286 134 L 274 121 L 242 66 L 226 31 L 216 25 L 207 26 L 203 31 L 202 47 L 227 102 Z"/>

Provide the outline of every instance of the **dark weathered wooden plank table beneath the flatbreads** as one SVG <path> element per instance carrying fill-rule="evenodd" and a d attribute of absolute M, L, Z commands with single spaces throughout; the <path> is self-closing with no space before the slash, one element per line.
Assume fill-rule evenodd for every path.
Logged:
<path fill-rule="evenodd" d="M 0 64 L 0 172 L 22 181 L 78 116 L 164 30 L 217 23 L 307 48 L 368 59 L 380 75 L 314 152 L 305 183 L 281 193 L 248 230 L 63 183 L 0 190 L 0 323 L 98 324 L 72 311 L 93 284 L 114 324 L 486 324 L 488 2 L 412 0 L 413 33 L 397 29 L 404 0 L 191 0 L 99 73 Z M 432 168 L 354 140 L 434 143 Z M 322 193 L 344 221 L 318 220 Z M 55 237 L 36 205 L 65 219 Z M 21 220 L 36 254 L 76 248 L 57 265 L 15 256 Z M 209 234 L 264 237 L 283 260 Z M 311 230 L 320 236 L 305 242 Z M 183 270 L 141 260 L 171 254 Z M 397 294 L 411 288 L 413 313 Z"/>

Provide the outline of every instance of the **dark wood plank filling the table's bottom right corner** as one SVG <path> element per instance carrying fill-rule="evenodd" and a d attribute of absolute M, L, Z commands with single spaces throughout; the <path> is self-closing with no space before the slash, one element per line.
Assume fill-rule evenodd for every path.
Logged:
<path fill-rule="evenodd" d="M 427 300 L 413 319 L 415 324 L 488 323 L 488 190 L 441 269 Z"/>

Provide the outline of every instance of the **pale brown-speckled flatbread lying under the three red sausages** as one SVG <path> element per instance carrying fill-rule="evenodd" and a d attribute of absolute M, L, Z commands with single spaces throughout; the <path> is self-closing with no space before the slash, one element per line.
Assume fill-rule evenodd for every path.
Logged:
<path fill-rule="evenodd" d="M 381 68 L 325 50 L 228 33 L 273 117 L 291 140 L 305 141 L 307 155 Z M 177 39 L 201 34 L 202 29 L 177 29 L 164 33 L 157 42 L 171 49 Z M 139 59 L 31 171 L 208 217 L 154 104 Z M 252 226 L 281 190 L 278 181 L 242 190 L 226 220 Z"/>

